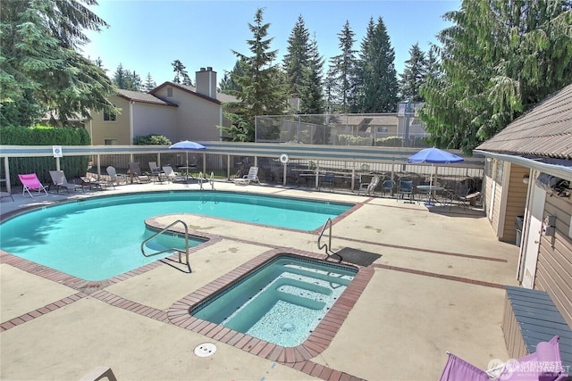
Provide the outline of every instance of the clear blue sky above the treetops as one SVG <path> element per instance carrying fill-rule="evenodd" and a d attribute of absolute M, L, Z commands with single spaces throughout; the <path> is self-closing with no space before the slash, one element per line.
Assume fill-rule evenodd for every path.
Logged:
<path fill-rule="evenodd" d="M 232 50 L 250 55 L 247 40 L 252 37 L 248 23 L 254 22 L 258 8 L 264 8 L 264 22 L 270 23 L 271 48 L 282 62 L 288 37 L 299 15 L 315 36 L 320 54 L 327 60 L 340 54 L 338 33 L 346 21 L 355 33 L 354 49 L 359 50 L 370 18 L 383 19 L 395 50 L 395 66 L 402 72 L 409 49 L 418 43 L 425 52 L 437 44 L 436 34 L 450 26 L 442 20 L 456 11 L 460 0 L 407 1 L 191 1 L 191 0 L 100 0 L 93 12 L 110 27 L 88 32 L 91 42 L 84 55 L 101 58 L 111 77 L 117 66 L 135 70 L 141 79 L 147 73 L 160 85 L 172 80 L 172 62 L 180 60 L 195 81 L 195 71 L 211 66 L 217 80 L 232 70 L 236 56 Z M 324 72 L 327 62 L 324 65 Z"/>

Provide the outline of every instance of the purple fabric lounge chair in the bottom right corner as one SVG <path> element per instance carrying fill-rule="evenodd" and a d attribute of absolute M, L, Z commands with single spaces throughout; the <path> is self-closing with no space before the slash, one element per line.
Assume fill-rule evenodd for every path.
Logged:
<path fill-rule="evenodd" d="M 565 380 L 568 377 L 564 374 L 560 359 L 559 336 L 552 337 L 548 342 L 538 343 L 534 353 L 489 370 L 478 369 L 450 352 L 447 354 L 449 357 L 440 381 Z"/>

